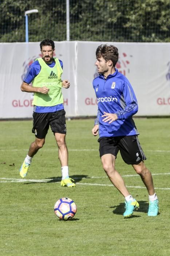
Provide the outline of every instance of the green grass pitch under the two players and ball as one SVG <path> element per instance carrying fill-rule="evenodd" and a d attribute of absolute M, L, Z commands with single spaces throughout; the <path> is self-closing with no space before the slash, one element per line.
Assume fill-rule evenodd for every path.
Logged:
<path fill-rule="evenodd" d="M 92 119 L 67 121 L 70 176 L 77 182 L 75 188 L 67 188 L 60 186 L 58 149 L 50 130 L 27 180 L 19 182 L 18 169 L 34 140 L 32 121 L 0 122 L 0 255 L 170 255 L 170 119 L 135 118 L 148 158 L 145 163 L 157 174 L 153 180 L 160 214 L 147 217 L 148 194 L 140 177 L 125 176 L 140 204 L 130 219 L 123 218 L 124 198 L 103 171 L 98 138 L 91 134 L 93 124 Z M 120 155 L 116 169 L 122 176 L 135 174 Z M 61 197 L 77 205 L 70 221 L 60 221 L 54 214 Z"/>

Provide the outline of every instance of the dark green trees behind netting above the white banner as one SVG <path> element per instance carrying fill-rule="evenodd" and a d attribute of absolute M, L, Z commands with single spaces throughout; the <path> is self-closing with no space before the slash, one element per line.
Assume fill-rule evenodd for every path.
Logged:
<path fill-rule="evenodd" d="M 41 4 L 40 4 L 41 2 Z M 24 12 L 29 41 L 66 40 L 66 0 L 0 1 L 0 42 L 24 42 Z M 169 42 L 169 0 L 70 1 L 70 39 L 84 41 Z"/>

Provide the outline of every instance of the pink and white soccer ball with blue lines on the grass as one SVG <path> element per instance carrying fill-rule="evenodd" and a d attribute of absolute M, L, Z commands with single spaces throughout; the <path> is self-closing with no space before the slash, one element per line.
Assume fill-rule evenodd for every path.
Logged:
<path fill-rule="evenodd" d="M 77 207 L 75 202 L 67 197 L 59 199 L 54 206 L 54 212 L 59 219 L 67 221 L 76 214 Z"/>

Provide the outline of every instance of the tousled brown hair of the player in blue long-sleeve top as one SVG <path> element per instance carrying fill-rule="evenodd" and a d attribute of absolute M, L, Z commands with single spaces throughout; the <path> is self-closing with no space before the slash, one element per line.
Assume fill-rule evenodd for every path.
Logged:
<path fill-rule="evenodd" d="M 119 58 L 118 48 L 114 45 L 99 45 L 96 50 L 96 58 L 99 59 L 101 57 L 103 57 L 105 61 L 111 60 L 113 67 L 115 67 Z"/>

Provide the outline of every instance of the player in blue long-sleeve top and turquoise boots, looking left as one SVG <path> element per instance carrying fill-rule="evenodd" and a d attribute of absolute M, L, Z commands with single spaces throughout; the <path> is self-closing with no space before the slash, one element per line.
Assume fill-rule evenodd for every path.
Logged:
<path fill-rule="evenodd" d="M 93 87 L 98 102 L 98 116 L 92 134 L 96 136 L 99 132 L 99 153 L 103 169 L 125 198 L 124 218 L 130 217 L 139 208 L 139 203 L 129 193 L 122 176 L 115 169 L 119 151 L 123 161 L 133 166 L 147 188 L 148 216 L 157 216 L 158 198 L 153 178 L 145 166 L 146 157 L 132 118 L 138 112 L 138 103 L 129 80 L 115 68 L 118 56 L 118 49 L 113 45 L 100 45 L 96 49 L 95 65 L 99 76 L 93 80 Z"/>

